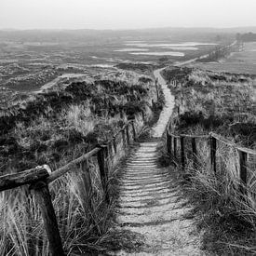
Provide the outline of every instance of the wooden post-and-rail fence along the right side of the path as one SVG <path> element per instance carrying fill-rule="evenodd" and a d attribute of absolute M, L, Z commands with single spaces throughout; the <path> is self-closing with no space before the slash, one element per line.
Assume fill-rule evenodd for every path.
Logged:
<path fill-rule="evenodd" d="M 253 171 L 256 168 L 255 158 L 256 151 L 249 148 L 241 147 L 236 145 L 232 141 L 228 141 L 223 138 L 221 135 L 214 132 L 210 132 L 209 135 L 188 135 L 188 134 L 173 134 L 170 132 L 171 122 L 169 122 L 166 130 L 166 146 L 169 157 L 173 157 L 176 162 L 181 164 L 182 170 L 186 166 L 186 156 L 191 156 L 193 159 L 193 167 L 196 168 L 198 165 L 197 154 L 197 143 L 198 140 L 209 141 L 209 157 L 210 165 L 212 171 L 217 173 L 218 171 L 218 160 L 217 160 L 217 151 L 218 145 L 222 144 L 228 149 L 236 152 L 235 157 L 237 157 L 238 165 L 238 174 L 239 174 L 239 189 L 242 194 L 247 194 L 247 183 L 249 178 L 249 166 Z M 253 158 L 252 163 L 249 163 L 249 156 Z"/>

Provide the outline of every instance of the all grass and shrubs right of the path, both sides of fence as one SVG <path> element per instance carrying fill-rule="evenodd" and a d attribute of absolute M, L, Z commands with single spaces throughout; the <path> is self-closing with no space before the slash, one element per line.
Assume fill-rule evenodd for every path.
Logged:
<path fill-rule="evenodd" d="M 215 131 L 231 141 L 255 148 L 255 84 L 249 75 L 188 68 L 167 70 L 164 74 L 182 84 L 171 88 L 183 113 L 174 121 L 176 133 Z M 175 173 L 194 204 L 191 216 L 202 231 L 203 249 L 214 255 L 255 255 L 255 166 L 249 168 L 249 193 L 241 195 L 237 152 L 218 143 L 218 171 L 214 174 L 209 165 L 209 142 L 196 141 L 196 168 L 191 155 L 186 155 L 185 173 L 180 169 Z M 185 140 L 185 145 L 190 148 L 190 141 Z M 255 163 L 255 159 L 250 161 Z M 186 181 L 188 177 L 190 182 Z"/>

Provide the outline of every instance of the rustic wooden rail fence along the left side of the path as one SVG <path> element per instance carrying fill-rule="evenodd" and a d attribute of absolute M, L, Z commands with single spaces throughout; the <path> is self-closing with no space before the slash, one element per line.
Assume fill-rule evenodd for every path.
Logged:
<path fill-rule="evenodd" d="M 142 112 L 144 121 L 145 114 Z M 108 191 L 109 167 L 111 158 L 117 153 L 117 140 L 120 136 L 123 147 L 127 147 L 131 141 L 135 141 L 139 135 L 139 130 L 136 130 L 135 121 L 130 120 L 128 123 L 115 133 L 112 140 L 107 141 L 103 145 L 99 145 L 85 155 L 74 159 L 67 165 L 58 168 L 54 171 L 47 166 L 40 166 L 15 174 L 7 174 L 0 177 L 0 192 L 9 189 L 14 189 L 22 185 L 30 185 L 30 189 L 34 191 L 34 198 L 39 205 L 44 226 L 47 232 L 49 243 L 49 251 L 53 256 L 65 255 L 61 242 L 61 235 L 58 227 L 58 222 L 53 208 L 51 195 L 49 192 L 49 184 L 55 182 L 68 172 L 74 171 L 75 167 L 81 165 L 81 170 L 88 175 L 90 181 L 90 173 L 88 171 L 87 161 L 90 157 L 96 156 L 98 160 L 101 185 L 106 203 L 110 202 Z M 89 184 L 91 187 L 91 183 Z"/>

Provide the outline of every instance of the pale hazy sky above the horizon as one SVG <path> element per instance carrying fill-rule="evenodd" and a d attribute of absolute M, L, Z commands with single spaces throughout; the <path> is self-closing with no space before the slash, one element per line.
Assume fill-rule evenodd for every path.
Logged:
<path fill-rule="evenodd" d="M 0 28 L 256 26 L 256 0 L 0 0 Z"/>

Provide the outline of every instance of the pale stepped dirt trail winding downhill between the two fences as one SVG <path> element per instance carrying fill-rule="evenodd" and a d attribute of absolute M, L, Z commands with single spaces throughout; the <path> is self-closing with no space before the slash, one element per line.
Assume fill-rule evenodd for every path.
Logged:
<path fill-rule="evenodd" d="M 136 251 L 120 250 L 112 255 L 204 255 L 194 222 L 186 216 L 190 210 L 188 202 L 169 169 L 157 164 L 157 147 L 174 107 L 174 98 L 160 71 L 155 71 L 155 77 L 167 104 L 152 128 L 152 138 L 134 146 L 120 188 L 118 229 L 142 237 L 142 246 Z"/>

